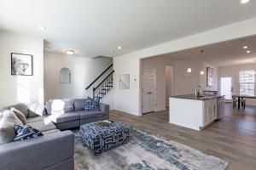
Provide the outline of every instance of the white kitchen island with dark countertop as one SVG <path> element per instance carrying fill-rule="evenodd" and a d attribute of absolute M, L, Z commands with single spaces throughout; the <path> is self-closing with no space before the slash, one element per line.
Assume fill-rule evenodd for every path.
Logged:
<path fill-rule="evenodd" d="M 195 94 L 172 96 L 169 122 L 200 131 L 217 120 L 218 95 L 195 97 Z"/>

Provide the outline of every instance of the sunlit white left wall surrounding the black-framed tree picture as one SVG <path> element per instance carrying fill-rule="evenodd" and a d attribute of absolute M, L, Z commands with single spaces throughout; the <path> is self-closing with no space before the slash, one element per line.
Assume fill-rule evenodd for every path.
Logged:
<path fill-rule="evenodd" d="M 33 76 L 11 76 L 11 53 L 33 55 Z M 0 31 L 0 107 L 44 102 L 44 40 Z"/>

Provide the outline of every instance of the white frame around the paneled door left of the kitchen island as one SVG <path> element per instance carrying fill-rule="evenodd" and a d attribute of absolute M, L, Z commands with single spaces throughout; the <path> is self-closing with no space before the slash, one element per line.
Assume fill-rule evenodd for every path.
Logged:
<path fill-rule="evenodd" d="M 142 81 L 141 81 L 141 114 L 146 114 L 149 112 L 143 112 L 143 70 L 148 69 L 148 70 L 154 70 L 155 71 L 155 89 L 154 89 L 154 111 L 157 111 L 157 69 L 156 68 L 150 68 L 150 67 L 145 67 L 142 69 Z"/>

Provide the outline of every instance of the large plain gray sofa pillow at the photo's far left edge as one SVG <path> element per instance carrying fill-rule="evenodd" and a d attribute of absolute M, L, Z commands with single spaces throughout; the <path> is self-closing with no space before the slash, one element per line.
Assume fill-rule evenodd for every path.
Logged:
<path fill-rule="evenodd" d="M 20 123 L 14 112 L 5 110 L 0 112 L 0 144 L 13 142 L 15 139 L 15 123 Z"/>

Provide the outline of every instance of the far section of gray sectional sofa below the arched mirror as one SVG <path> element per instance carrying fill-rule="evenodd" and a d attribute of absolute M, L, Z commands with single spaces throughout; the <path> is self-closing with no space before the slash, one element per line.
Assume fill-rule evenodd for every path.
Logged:
<path fill-rule="evenodd" d="M 50 99 L 46 102 L 48 118 L 61 130 L 109 119 L 109 105 L 100 103 L 100 111 L 84 111 L 85 102 L 86 99 Z"/>

